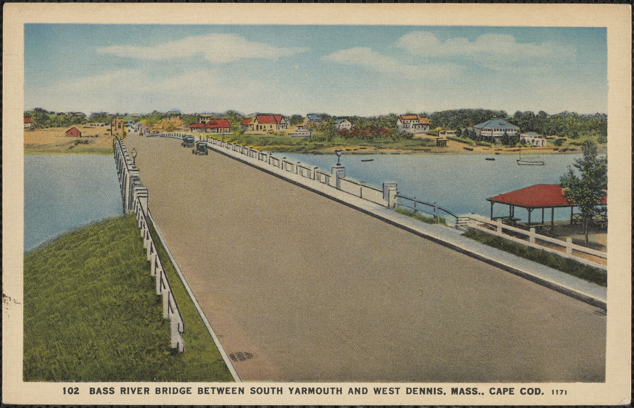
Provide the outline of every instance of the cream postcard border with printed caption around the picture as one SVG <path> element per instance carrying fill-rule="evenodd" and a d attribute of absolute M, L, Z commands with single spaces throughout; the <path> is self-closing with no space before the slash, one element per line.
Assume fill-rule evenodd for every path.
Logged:
<path fill-rule="evenodd" d="M 164 23 L 276 25 L 503 25 L 607 27 L 608 51 L 608 292 L 605 383 L 547 383 L 567 395 L 63 395 L 72 383 L 22 382 L 23 57 L 25 23 Z M 191 15 L 197 15 L 192 22 Z M 503 16 L 501 18 L 500 16 Z M 424 19 L 422 18 L 424 17 Z M 193 405 L 614 405 L 631 394 L 631 7 L 627 4 L 55 4 L 9 3 L 3 23 L 3 402 L 8 404 Z M 493 107 L 495 108 L 495 107 Z M 91 383 L 75 383 L 87 390 Z M 120 383 L 124 386 L 143 383 Z M 285 386 L 286 383 L 275 383 Z M 339 385 L 341 384 L 341 385 Z M 99 383 L 92 386 L 104 386 Z M 112 386 L 119 386 L 111 383 Z M 147 384 L 159 386 L 161 383 Z M 264 386 L 266 383 L 256 383 Z M 273 385 L 273 384 L 271 384 Z M 302 386 L 301 383 L 288 383 Z M 311 383 L 310 386 L 318 386 Z M 323 383 L 354 386 L 354 383 Z M 378 386 L 378 383 L 356 386 Z M 411 385 L 422 386 L 419 383 Z M 517 384 L 531 386 L 540 384 Z M 383 386 L 398 386 L 385 384 Z M 401 386 L 406 386 L 401 384 Z M 433 386 L 450 388 L 450 384 Z M 465 384 L 489 388 L 495 383 Z M 505 384 L 499 386 L 514 386 Z"/>

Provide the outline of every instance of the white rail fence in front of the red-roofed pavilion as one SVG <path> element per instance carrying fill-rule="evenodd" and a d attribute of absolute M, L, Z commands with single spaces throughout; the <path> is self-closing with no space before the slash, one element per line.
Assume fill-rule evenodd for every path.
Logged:
<path fill-rule="evenodd" d="M 586 248 L 585 246 L 573 244 L 573 240 L 571 238 L 567 238 L 566 241 L 561 241 L 560 239 L 537 234 L 534 228 L 531 228 L 530 231 L 526 231 L 525 229 L 502 224 L 500 220 L 493 221 L 487 217 L 482 217 L 482 215 L 477 214 L 463 215 L 460 217 L 460 220 L 463 225 L 466 225 L 469 228 L 474 228 L 505 239 L 510 239 L 510 241 L 531 246 L 532 248 L 538 248 L 546 252 L 555 253 L 561 257 L 573 259 L 577 262 L 581 262 L 582 264 L 607 271 L 607 252 L 601 252 L 591 248 Z M 507 233 L 505 233 L 505 231 L 507 231 Z M 512 235 L 508 233 L 512 233 Z M 524 236 L 527 240 L 517 238 L 515 235 Z M 543 244 L 540 244 L 539 241 Z M 552 246 L 555 246 L 555 248 L 552 248 Z"/>

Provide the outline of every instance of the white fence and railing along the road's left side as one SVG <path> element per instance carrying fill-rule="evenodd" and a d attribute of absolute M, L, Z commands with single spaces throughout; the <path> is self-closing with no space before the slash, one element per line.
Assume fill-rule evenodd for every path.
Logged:
<path fill-rule="evenodd" d="M 163 318 L 170 322 L 172 348 L 183 352 L 185 349 L 183 317 L 172 294 L 169 279 L 157 253 L 156 245 L 148 226 L 148 189 L 141 184 L 139 170 L 136 169 L 133 160 L 128 155 L 126 145 L 118 138 L 114 139 L 113 145 L 124 213 L 136 212 L 137 227 L 141 231 L 143 246 L 145 247 L 148 261 L 150 261 L 150 273 L 155 277 L 156 293 L 163 296 Z"/>

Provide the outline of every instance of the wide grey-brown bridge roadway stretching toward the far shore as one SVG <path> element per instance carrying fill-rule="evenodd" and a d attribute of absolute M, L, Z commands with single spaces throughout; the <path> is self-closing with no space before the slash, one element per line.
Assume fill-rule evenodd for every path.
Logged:
<path fill-rule="evenodd" d="M 214 151 L 125 142 L 245 381 L 605 378 L 595 307 Z"/>

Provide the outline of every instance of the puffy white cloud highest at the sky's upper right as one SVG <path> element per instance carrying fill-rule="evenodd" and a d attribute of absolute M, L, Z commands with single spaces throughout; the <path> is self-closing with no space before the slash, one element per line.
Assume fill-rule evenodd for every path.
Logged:
<path fill-rule="evenodd" d="M 495 67 L 491 61 L 507 62 L 512 65 L 519 61 L 548 58 L 550 60 L 571 60 L 576 49 L 552 42 L 543 44 L 521 44 L 513 35 L 482 34 L 475 41 L 455 37 L 440 41 L 427 31 L 413 31 L 396 41 L 396 46 L 411 54 L 430 57 L 467 56 L 479 65 Z"/>

